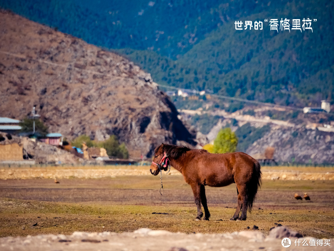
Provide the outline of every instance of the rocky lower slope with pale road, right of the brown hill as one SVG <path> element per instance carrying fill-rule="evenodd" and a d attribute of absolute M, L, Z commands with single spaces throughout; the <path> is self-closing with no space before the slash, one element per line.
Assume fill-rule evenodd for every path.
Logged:
<path fill-rule="evenodd" d="M 332 113 L 304 114 L 302 111 L 296 112 L 283 107 L 248 106 L 232 113 L 222 109 L 197 109 L 180 110 L 180 114 L 188 123 L 196 115 L 201 118 L 219 117 L 218 122 L 212 124 L 211 131 L 205 135 L 207 139 L 212 142 L 221 128 L 230 127 L 238 136 L 237 150 L 258 159 L 264 159 L 266 148 L 273 147 L 273 158 L 279 164 L 334 163 Z M 268 116 L 270 114 L 271 117 Z M 286 120 L 283 120 L 283 116 Z M 207 127 L 207 124 L 204 126 Z"/>

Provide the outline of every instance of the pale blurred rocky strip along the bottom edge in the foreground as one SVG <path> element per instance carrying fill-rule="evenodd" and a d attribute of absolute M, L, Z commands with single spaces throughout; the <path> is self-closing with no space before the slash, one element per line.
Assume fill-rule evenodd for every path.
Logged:
<path fill-rule="evenodd" d="M 307 243 L 312 239 L 290 237 L 289 250 L 332 250 L 332 246 L 295 246 L 295 240 Z M 38 235 L 0 238 L 0 249 L 5 250 L 285 250 L 281 238 L 264 236 L 259 231 L 241 231 L 224 234 L 185 234 L 165 230 L 141 228 L 125 233 L 86 233 L 72 235 Z M 333 245 L 334 240 L 330 240 Z"/>

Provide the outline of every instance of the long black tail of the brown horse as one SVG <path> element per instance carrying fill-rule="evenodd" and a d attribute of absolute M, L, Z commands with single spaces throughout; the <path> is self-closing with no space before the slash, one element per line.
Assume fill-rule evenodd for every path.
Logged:
<path fill-rule="evenodd" d="M 258 161 L 254 161 L 252 178 L 247 185 L 247 207 L 248 211 L 252 211 L 253 202 L 255 200 L 258 189 L 261 187 L 261 166 Z"/>

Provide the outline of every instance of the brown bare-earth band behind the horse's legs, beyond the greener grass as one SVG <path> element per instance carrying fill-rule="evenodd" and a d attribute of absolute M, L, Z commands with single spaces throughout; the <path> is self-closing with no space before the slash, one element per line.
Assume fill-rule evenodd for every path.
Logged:
<path fill-rule="evenodd" d="M 160 176 L 117 176 L 98 179 L 8 179 L 0 180 L 0 197 L 66 203 L 102 203 L 111 205 L 165 205 L 159 193 Z M 191 206 L 193 193 L 181 175 L 163 176 L 163 187 L 169 205 Z M 255 208 L 271 210 L 304 209 L 334 211 L 334 181 L 263 181 Z M 234 208 L 236 187 L 206 187 L 209 205 Z M 297 201 L 295 193 L 307 192 L 312 201 Z M 161 190 L 162 193 L 162 190 Z"/>

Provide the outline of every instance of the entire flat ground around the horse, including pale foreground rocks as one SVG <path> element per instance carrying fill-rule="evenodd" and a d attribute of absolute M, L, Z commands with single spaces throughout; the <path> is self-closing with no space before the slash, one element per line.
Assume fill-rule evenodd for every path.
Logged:
<path fill-rule="evenodd" d="M 117 167 L 113 174 L 113 168 L 63 168 L 68 172 L 64 176 L 58 168 L 0 169 L 1 250 L 285 250 L 283 238 L 270 232 L 278 224 L 304 236 L 291 238 L 288 250 L 332 250 L 334 245 L 331 169 L 305 169 L 303 173 L 313 173 L 309 180 L 291 170 L 265 176 L 245 222 L 228 220 L 236 206 L 234 184 L 206 187 L 211 218 L 196 222 L 191 188 L 173 171 L 163 175 L 166 206 L 159 193 L 160 177 L 147 174 L 147 167 L 139 167 L 139 172 L 134 171 L 137 167 Z M 56 171 L 59 183 L 53 180 Z M 28 178 L 38 172 L 38 178 Z M 293 172 L 300 180 L 289 175 Z M 8 173 L 26 176 L 5 179 Z M 297 201 L 296 192 L 307 192 L 311 201 Z M 252 231 L 253 225 L 259 230 Z M 78 230 L 85 232 L 74 232 Z M 320 246 L 319 239 L 330 246 Z"/>

